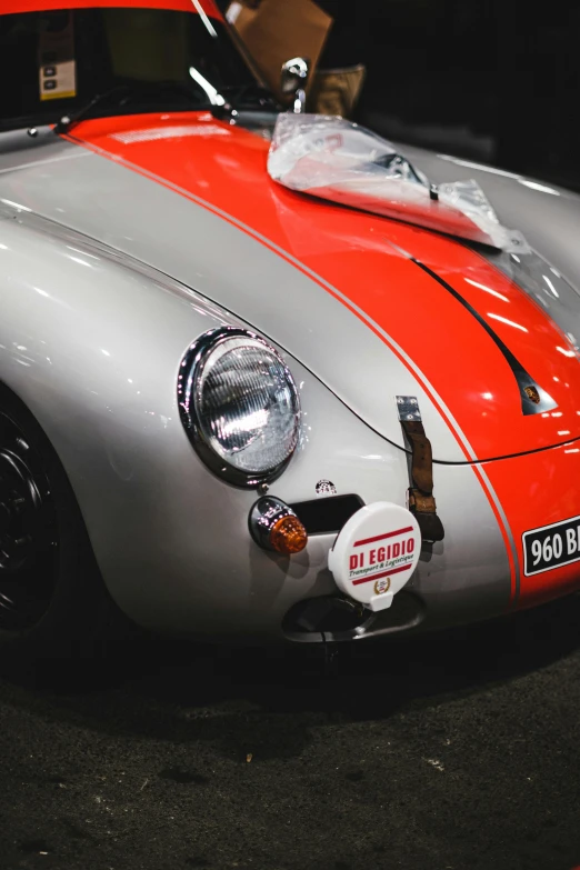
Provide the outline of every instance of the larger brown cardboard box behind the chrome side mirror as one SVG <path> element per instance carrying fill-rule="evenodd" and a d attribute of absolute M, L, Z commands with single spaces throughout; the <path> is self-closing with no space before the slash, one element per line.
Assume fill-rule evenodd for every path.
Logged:
<path fill-rule="evenodd" d="M 312 0 L 234 0 L 228 7 L 226 18 L 280 100 L 280 70 L 287 60 L 308 58 L 312 82 L 332 27 L 332 18 Z"/>

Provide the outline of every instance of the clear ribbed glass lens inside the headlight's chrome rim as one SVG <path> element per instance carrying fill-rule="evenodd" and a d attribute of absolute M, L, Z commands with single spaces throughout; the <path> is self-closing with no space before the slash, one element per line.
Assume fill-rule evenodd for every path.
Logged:
<path fill-rule="evenodd" d="M 264 341 L 218 340 L 194 372 L 194 413 L 217 456 L 248 476 L 283 464 L 298 443 L 300 404 L 293 378 Z"/>

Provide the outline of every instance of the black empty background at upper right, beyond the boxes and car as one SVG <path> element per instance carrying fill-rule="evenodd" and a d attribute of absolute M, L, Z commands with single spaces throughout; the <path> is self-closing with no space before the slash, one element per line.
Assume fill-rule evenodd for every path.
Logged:
<path fill-rule="evenodd" d="M 320 0 L 321 67 L 363 62 L 356 120 L 382 134 L 580 189 L 580 6 Z"/>

